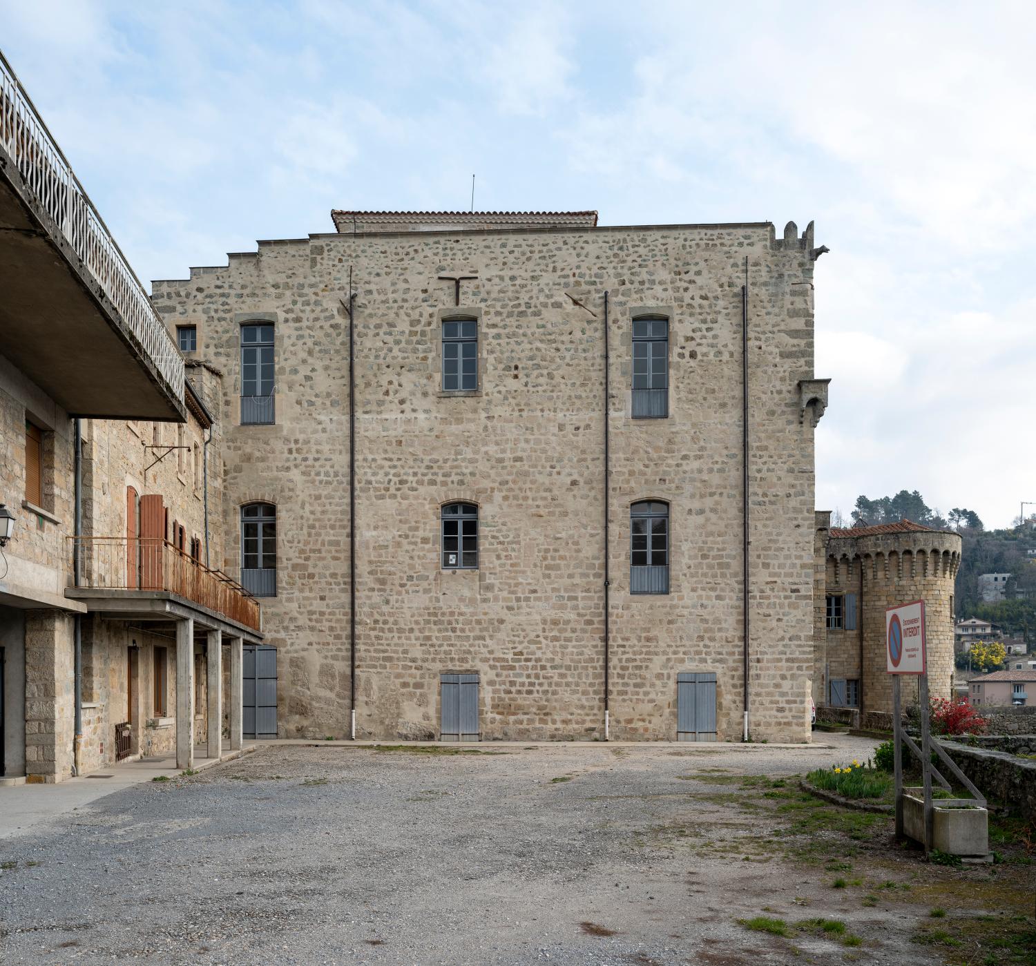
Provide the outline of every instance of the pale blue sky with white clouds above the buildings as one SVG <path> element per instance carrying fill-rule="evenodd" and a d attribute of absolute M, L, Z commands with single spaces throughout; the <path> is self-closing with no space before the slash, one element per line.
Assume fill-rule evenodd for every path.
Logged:
<path fill-rule="evenodd" d="M 1036 500 L 1031 3 L 0 0 L 145 280 L 343 208 L 816 222 L 817 505 Z"/>

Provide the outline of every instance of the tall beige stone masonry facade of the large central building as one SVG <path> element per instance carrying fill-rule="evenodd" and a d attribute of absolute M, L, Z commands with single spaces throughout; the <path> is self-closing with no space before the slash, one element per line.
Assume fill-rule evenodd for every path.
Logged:
<path fill-rule="evenodd" d="M 768 225 L 262 242 L 154 284 L 225 374 L 228 539 L 278 507 L 285 736 L 348 733 L 348 297 L 356 318 L 357 736 L 433 737 L 439 674 L 481 675 L 485 738 L 603 735 L 603 315 L 610 293 L 611 734 L 673 738 L 677 673 L 742 727 L 741 286 L 748 260 L 752 733 L 808 740 L 813 263 Z M 454 305 L 451 282 L 478 274 Z M 571 296 L 571 298 L 569 297 Z M 575 304 L 574 298 L 583 306 Z M 670 318 L 670 416 L 629 415 L 631 318 Z M 481 387 L 440 391 L 443 315 L 480 319 Z M 239 326 L 276 327 L 277 425 L 238 426 Z M 231 425 L 233 423 L 233 425 Z M 670 592 L 629 593 L 630 503 L 670 503 Z M 479 505 L 480 568 L 439 564 L 439 507 Z"/>

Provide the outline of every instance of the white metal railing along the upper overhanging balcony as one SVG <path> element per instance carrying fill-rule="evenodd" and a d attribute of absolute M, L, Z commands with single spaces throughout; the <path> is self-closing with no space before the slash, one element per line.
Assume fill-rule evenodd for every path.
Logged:
<path fill-rule="evenodd" d="M 2 53 L 0 144 L 173 393 L 183 399 L 183 357 L 172 335 Z"/>

